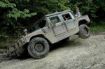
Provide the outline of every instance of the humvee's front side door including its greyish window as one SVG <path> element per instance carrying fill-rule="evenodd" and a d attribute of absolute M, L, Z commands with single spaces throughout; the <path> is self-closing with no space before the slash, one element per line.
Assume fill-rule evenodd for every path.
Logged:
<path fill-rule="evenodd" d="M 49 18 L 51 22 L 51 27 L 55 36 L 67 32 L 64 22 L 62 22 L 61 16 L 52 16 Z"/>

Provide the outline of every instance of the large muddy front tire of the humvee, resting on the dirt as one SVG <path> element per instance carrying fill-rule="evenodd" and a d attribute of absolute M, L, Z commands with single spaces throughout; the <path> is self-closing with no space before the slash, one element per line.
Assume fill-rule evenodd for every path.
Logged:
<path fill-rule="evenodd" d="M 28 45 L 28 53 L 35 59 L 45 57 L 49 52 L 49 43 L 46 39 L 41 37 L 33 38 Z"/>

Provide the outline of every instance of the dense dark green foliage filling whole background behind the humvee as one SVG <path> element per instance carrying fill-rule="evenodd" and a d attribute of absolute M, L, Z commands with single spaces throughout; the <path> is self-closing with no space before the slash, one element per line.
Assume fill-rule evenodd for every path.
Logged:
<path fill-rule="evenodd" d="M 0 0 L 0 32 L 17 34 L 45 14 L 76 6 L 93 22 L 105 20 L 105 0 Z"/>

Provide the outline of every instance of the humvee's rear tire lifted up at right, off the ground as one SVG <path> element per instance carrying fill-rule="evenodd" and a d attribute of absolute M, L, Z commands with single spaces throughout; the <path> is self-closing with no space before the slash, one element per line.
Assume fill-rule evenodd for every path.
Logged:
<path fill-rule="evenodd" d="M 90 37 L 89 27 L 86 24 L 79 26 L 79 37 L 82 39 Z"/>

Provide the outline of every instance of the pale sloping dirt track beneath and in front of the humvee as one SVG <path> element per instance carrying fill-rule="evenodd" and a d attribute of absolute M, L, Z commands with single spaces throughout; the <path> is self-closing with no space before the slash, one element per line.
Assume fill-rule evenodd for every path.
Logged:
<path fill-rule="evenodd" d="M 57 46 L 43 59 L 4 61 L 0 69 L 105 69 L 105 35 L 62 42 Z"/>

